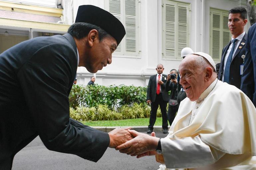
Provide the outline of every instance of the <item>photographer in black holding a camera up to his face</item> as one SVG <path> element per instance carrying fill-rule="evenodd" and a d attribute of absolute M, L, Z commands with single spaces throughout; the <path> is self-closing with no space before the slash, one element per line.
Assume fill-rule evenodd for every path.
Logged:
<path fill-rule="evenodd" d="M 170 123 L 170 126 L 172 125 L 175 115 L 179 108 L 179 105 L 177 102 L 177 83 L 178 83 L 177 77 L 178 77 L 177 70 L 172 69 L 170 71 L 170 74 L 168 74 L 167 76 L 167 82 L 166 82 L 166 91 L 171 90 L 168 113 L 167 113 L 167 119 Z"/>

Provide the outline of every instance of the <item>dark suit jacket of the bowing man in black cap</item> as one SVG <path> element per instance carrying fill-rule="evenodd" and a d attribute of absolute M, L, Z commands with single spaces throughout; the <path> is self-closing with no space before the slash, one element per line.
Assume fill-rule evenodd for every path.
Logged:
<path fill-rule="evenodd" d="M 54 151 L 97 161 L 109 136 L 69 118 L 77 50 L 70 34 L 37 37 L 0 54 L 0 169 L 40 136 Z"/>

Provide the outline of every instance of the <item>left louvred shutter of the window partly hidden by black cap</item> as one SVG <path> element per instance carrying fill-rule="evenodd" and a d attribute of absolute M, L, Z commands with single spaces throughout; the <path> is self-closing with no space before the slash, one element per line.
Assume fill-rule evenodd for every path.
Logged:
<path fill-rule="evenodd" d="M 114 15 L 119 21 L 121 21 L 121 2 L 120 0 L 109 0 L 109 12 Z M 121 51 L 121 42 L 117 46 L 115 51 Z"/>

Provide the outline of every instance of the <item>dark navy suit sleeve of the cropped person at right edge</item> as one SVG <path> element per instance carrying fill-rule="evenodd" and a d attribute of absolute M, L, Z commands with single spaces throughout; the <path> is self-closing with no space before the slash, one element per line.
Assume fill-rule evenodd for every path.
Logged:
<path fill-rule="evenodd" d="M 241 90 L 256 106 L 256 24 L 248 30 Z"/>

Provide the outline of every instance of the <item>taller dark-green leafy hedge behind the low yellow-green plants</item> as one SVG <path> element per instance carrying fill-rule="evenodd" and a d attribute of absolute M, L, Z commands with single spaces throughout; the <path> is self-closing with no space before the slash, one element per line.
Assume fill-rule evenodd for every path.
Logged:
<path fill-rule="evenodd" d="M 146 97 L 147 87 L 73 85 L 69 95 L 69 105 L 73 109 L 106 105 L 108 108 L 116 110 L 122 106 L 132 106 L 133 103 L 146 106 Z"/>

